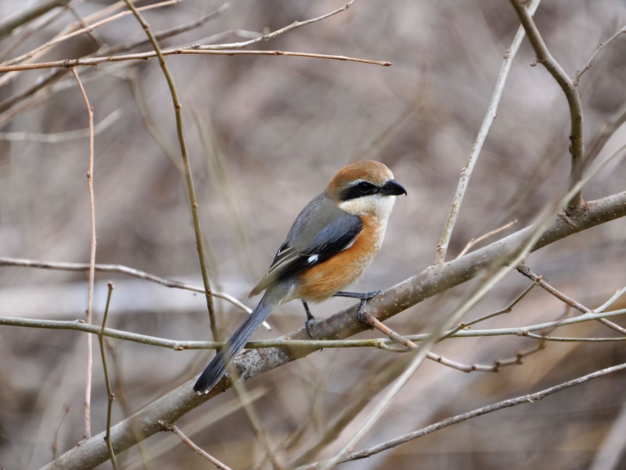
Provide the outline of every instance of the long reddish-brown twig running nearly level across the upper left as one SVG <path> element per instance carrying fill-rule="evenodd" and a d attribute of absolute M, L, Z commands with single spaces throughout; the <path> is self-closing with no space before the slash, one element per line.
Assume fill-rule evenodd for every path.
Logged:
<path fill-rule="evenodd" d="M 391 62 L 377 61 L 369 59 L 359 59 L 346 56 L 334 56 L 327 54 L 311 54 L 305 52 L 290 52 L 290 51 L 197 51 L 189 49 L 167 49 L 163 50 L 164 56 L 178 55 L 178 54 L 206 54 L 206 55 L 218 55 L 218 56 L 237 56 L 237 55 L 262 55 L 262 56 L 294 56 L 294 57 L 310 57 L 319 59 L 331 59 L 331 60 L 347 60 L 352 62 L 361 62 L 365 64 L 382 65 L 384 67 L 391 66 Z M 126 54 L 120 56 L 106 56 L 106 57 L 93 57 L 86 59 L 64 59 L 52 62 L 38 62 L 32 64 L 23 65 L 7 65 L 0 66 L 0 73 L 18 71 L 18 70 L 39 70 L 42 68 L 55 68 L 55 67 L 74 67 L 78 65 L 98 65 L 104 62 L 119 62 L 123 60 L 147 60 L 156 57 L 156 53 L 142 52 L 137 54 Z"/>

